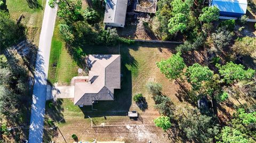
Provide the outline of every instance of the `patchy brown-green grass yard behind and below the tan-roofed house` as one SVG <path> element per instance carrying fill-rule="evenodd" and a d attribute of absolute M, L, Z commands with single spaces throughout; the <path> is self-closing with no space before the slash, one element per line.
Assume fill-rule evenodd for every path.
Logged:
<path fill-rule="evenodd" d="M 172 44 L 152 43 L 120 45 L 120 49 L 118 49 L 118 46 L 84 47 L 86 54 L 118 54 L 118 51 L 120 51 L 123 74 L 121 90 L 115 91 L 114 101 L 102 101 L 95 104 L 93 108 L 98 111 L 92 111 L 91 106 L 83 108 L 74 106 L 71 99 L 58 99 L 55 107 L 49 108 L 46 105 L 46 120 L 51 118 L 53 121 L 59 121 L 64 118 L 62 123 L 58 124 L 58 127 L 68 142 L 72 141 L 71 134 L 73 133 L 76 133 L 79 140 L 83 141 L 92 141 L 95 138 L 100 141 L 125 140 L 127 142 L 147 142 L 148 140 L 158 140 L 159 142 L 170 142 L 167 134 L 155 126 L 140 129 L 134 127 L 128 131 L 123 129 L 124 127 L 119 127 L 118 129 L 108 129 L 106 131 L 105 129 L 92 128 L 90 119 L 87 116 L 92 117 L 97 125 L 153 125 L 153 119 L 158 117 L 159 113 L 155 110 L 154 100 L 148 94 L 145 87 L 148 81 L 162 83 L 163 94 L 169 96 L 176 106 L 190 106 L 185 98 L 177 96 L 179 86 L 175 85 L 173 81 L 167 80 L 156 66 L 157 61 L 172 55 L 174 47 L 175 45 Z M 63 72 L 59 76 L 66 77 Z M 132 95 L 137 93 L 142 93 L 146 98 L 148 104 L 146 111 L 141 111 L 133 102 Z M 139 121 L 131 121 L 126 116 L 127 111 L 132 110 L 139 112 Z M 106 120 L 104 116 L 106 116 Z M 57 142 L 63 142 L 62 136 L 58 131 L 45 132 L 44 139 L 49 140 L 50 138 Z"/>

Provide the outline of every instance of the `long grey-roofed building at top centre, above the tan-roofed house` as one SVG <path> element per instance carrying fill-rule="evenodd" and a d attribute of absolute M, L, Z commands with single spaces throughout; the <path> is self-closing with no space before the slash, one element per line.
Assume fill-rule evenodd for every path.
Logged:
<path fill-rule="evenodd" d="M 106 0 L 104 23 L 106 26 L 124 27 L 128 0 Z"/>

